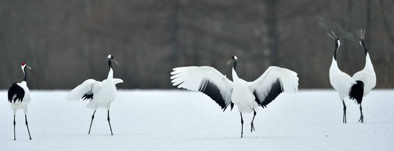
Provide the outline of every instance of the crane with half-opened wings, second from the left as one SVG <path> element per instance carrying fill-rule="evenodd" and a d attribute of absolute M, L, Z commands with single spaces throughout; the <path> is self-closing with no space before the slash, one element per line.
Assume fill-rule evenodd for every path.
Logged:
<path fill-rule="evenodd" d="M 90 128 L 92 127 L 94 114 L 96 113 L 96 110 L 98 108 L 106 108 L 108 111 L 107 120 L 109 124 L 109 129 L 111 130 L 111 135 L 113 135 L 111 123 L 109 122 L 110 120 L 109 109 L 111 103 L 115 100 L 115 96 L 116 96 L 115 85 L 118 83 L 123 83 L 123 81 L 121 79 L 113 78 L 112 61 L 118 64 L 115 58 L 113 57 L 113 55 L 112 54 L 108 55 L 107 60 L 109 66 L 109 73 L 107 79 L 103 80 L 102 82 L 95 81 L 93 79 L 86 80 L 81 85 L 74 88 L 66 96 L 66 99 L 70 101 L 90 100 L 90 102 L 88 103 L 88 105 L 86 105 L 86 107 L 93 109 L 94 112 L 92 115 L 92 121 L 90 122 L 88 134 L 90 134 Z"/>

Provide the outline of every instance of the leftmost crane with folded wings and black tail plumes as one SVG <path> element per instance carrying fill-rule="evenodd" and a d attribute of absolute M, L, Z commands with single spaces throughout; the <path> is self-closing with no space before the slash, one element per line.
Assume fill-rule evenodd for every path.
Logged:
<path fill-rule="evenodd" d="M 31 140 L 29 126 L 27 125 L 27 107 L 30 104 L 31 99 L 30 99 L 30 91 L 29 88 L 27 87 L 27 72 L 26 72 L 26 68 L 31 69 L 31 67 L 28 66 L 25 62 L 22 63 L 21 67 L 23 74 L 25 75 L 25 78 L 21 83 L 14 83 L 10 86 L 10 89 L 8 89 L 8 101 L 10 102 L 11 109 L 14 111 L 14 140 L 16 140 L 15 114 L 19 109 L 23 109 L 23 112 L 25 112 L 25 124 Z"/>

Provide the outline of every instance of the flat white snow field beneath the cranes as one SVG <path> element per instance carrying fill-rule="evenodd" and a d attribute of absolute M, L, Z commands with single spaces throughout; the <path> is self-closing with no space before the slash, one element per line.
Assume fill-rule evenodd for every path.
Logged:
<path fill-rule="evenodd" d="M 0 91 L 0 150 L 394 150 L 394 90 L 372 90 L 359 106 L 343 106 L 333 90 L 282 93 L 253 114 L 243 114 L 240 138 L 237 108 L 222 112 L 208 96 L 182 90 L 119 90 L 111 106 L 114 135 L 107 112 L 98 110 L 88 134 L 93 110 L 88 101 L 69 102 L 68 91 L 32 91 L 28 122 L 16 116 L 7 91 Z"/>

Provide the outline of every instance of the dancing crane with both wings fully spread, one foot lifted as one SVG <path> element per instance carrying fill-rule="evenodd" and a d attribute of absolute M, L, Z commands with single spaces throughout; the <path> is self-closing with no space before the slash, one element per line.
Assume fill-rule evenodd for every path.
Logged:
<path fill-rule="evenodd" d="M 254 130 L 253 120 L 256 109 L 261 106 L 267 107 L 282 92 L 297 92 L 297 73 L 286 68 L 270 66 L 255 81 L 246 82 L 236 73 L 238 58 L 235 55 L 227 64 L 233 63 L 233 81 L 211 66 L 186 66 L 176 67 L 171 72 L 173 86 L 187 90 L 201 91 L 211 97 L 221 108 L 226 110 L 228 105 L 231 109 L 234 104 L 238 106 L 241 115 L 241 137 L 243 135 L 242 113 L 253 112 L 250 123 L 250 131 Z"/>

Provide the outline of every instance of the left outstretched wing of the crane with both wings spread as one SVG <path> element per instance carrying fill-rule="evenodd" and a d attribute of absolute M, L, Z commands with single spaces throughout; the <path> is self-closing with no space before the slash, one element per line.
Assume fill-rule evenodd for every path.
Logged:
<path fill-rule="evenodd" d="M 178 88 L 201 91 L 226 110 L 231 104 L 233 82 L 211 66 L 177 67 L 171 72 L 171 83 Z"/>

